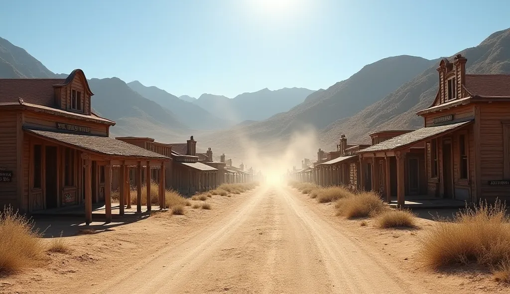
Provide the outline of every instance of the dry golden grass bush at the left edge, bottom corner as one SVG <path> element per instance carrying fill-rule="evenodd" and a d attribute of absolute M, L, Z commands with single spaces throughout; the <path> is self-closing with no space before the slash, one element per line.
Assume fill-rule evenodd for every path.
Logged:
<path fill-rule="evenodd" d="M 33 221 L 11 207 L 0 211 L 0 272 L 13 273 L 35 266 L 45 249 L 40 237 Z"/>

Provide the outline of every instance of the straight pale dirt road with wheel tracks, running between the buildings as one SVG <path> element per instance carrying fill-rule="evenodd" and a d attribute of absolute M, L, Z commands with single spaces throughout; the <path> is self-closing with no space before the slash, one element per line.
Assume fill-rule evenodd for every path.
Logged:
<path fill-rule="evenodd" d="M 259 188 L 181 241 L 125 264 L 86 292 L 436 292 L 353 242 L 283 187 Z"/>

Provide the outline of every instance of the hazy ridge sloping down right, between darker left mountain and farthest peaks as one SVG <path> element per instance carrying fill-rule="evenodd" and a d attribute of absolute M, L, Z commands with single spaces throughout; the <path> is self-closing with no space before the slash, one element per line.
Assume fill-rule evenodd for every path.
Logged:
<path fill-rule="evenodd" d="M 177 120 L 191 129 L 212 130 L 225 128 L 231 125 L 202 107 L 181 100 L 156 86 L 145 86 L 139 81 L 132 81 L 127 83 L 127 85 L 143 97 L 169 109 L 175 114 Z M 221 112 L 217 113 L 221 115 Z"/>

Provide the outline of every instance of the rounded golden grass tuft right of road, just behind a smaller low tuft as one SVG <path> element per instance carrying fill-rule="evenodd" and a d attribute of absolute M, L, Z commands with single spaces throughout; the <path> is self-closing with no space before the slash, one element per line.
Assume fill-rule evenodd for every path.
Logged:
<path fill-rule="evenodd" d="M 385 209 L 385 204 L 377 194 L 362 192 L 339 199 L 335 207 L 338 216 L 359 218 L 377 215 Z"/>

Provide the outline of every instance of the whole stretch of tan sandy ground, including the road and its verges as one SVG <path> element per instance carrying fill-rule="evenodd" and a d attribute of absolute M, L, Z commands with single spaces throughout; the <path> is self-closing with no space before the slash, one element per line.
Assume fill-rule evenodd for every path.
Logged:
<path fill-rule="evenodd" d="M 66 237 L 70 254 L 0 280 L 0 293 L 510 292 L 487 273 L 420 267 L 418 230 L 380 230 L 334 216 L 294 189 L 213 196 L 213 210 L 159 214 Z"/>

